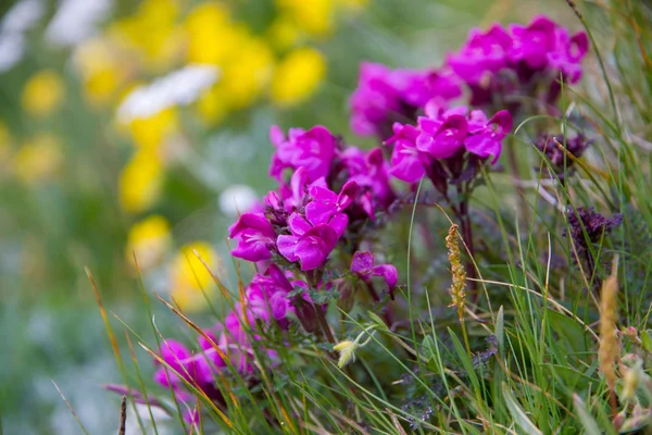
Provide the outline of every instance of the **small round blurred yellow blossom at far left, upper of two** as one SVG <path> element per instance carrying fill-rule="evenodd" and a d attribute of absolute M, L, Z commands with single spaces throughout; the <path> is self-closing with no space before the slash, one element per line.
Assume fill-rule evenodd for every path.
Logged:
<path fill-rule="evenodd" d="M 64 87 L 59 75 L 45 70 L 34 74 L 23 88 L 23 109 L 37 116 L 45 116 L 57 110 L 63 101 Z"/>

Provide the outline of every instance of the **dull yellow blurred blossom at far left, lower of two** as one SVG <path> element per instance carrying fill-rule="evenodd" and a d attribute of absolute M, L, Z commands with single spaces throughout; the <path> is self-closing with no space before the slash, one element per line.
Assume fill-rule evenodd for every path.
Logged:
<path fill-rule="evenodd" d="M 51 133 L 40 133 L 23 144 L 14 156 L 16 177 L 25 183 L 51 178 L 63 163 L 61 144 Z"/>

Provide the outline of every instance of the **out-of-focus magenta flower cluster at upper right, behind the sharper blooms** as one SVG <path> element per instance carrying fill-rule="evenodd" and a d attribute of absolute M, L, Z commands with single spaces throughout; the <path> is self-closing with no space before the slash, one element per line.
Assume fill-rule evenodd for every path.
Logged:
<path fill-rule="evenodd" d="M 546 16 L 526 26 L 494 24 L 473 29 L 466 44 L 439 70 L 390 70 L 363 63 L 358 89 L 350 100 L 351 128 L 359 135 L 391 135 L 393 122 L 410 123 L 427 102 L 446 107 L 471 91 L 475 107 L 498 105 L 515 112 L 525 98 L 554 103 L 560 78 L 577 83 L 589 49 L 587 35 L 573 36 Z"/>

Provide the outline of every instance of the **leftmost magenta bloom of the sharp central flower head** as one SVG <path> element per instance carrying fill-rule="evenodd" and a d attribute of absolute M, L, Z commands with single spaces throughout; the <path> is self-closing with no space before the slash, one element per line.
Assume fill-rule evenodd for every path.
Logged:
<path fill-rule="evenodd" d="M 238 239 L 231 256 L 248 261 L 272 258 L 271 249 L 276 243 L 274 227 L 263 213 L 244 213 L 228 228 L 229 237 Z"/>

